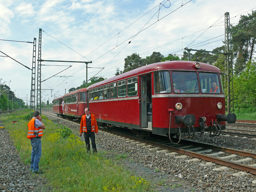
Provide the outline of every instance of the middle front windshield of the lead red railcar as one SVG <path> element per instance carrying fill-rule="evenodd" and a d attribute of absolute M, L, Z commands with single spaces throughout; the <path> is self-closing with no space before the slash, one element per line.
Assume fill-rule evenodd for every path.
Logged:
<path fill-rule="evenodd" d="M 199 93 L 196 72 L 172 72 L 174 93 Z"/>

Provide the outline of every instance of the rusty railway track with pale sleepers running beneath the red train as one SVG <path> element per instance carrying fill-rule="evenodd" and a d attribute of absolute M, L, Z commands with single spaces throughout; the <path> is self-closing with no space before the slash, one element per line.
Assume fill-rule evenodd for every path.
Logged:
<path fill-rule="evenodd" d="M 50 112 L 43 113 L 53 115 Z M 55 114 L 53 116 L 57 117 Z M 76 123 L 79 122 L 76 121 Z M 99 127 L 99 130 L 125 137 L 127 138 L 127 142 L 139 142 L 138 145 L 152 148 L 152 150 L 170 150 L 184 156 L 191 156 L 208 162 L 214 162 L 219 165 L 256 175 L 256 153 L 188 140 L 182 140 L 180 144 L 173 145 L 166 136 L 155 135 L 154 138 L 143 139 L 124 128 L 112 127 L 105 129 Z M 237 160 L 232 160 L 233 158 Z"/>

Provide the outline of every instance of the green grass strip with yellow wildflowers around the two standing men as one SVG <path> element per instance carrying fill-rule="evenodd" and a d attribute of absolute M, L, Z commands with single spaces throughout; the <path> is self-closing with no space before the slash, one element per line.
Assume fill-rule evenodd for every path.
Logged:
<path fill-rule="evenodd" d="M 31 144 L 27 136 L 27 111 L 1 115 L 22 160 L 30 166 Z M 39 167 L 53 192 L 133 192 L 152 191 L 150 182 L 132 175 L 105 158 L 105 152 L 86 153 L 85 144 L 73 134 L 63 137 L 63 128 L 43 117 L 46 129 L 42 138 Z M 17 123 L 12 123 L 16 120 Z M 64 132 L 69 132 L 65 127 Z M 125 159 L 127 154 L 116 159 Z"/>

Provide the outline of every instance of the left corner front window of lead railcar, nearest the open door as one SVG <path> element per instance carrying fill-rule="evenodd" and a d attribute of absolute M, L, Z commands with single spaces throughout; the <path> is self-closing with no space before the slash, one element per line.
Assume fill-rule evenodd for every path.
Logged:
<path fill-rule="evenodd" d="M 170 93 L 171 79 L 168 71 L 154 73 L 154 93 Z"/>

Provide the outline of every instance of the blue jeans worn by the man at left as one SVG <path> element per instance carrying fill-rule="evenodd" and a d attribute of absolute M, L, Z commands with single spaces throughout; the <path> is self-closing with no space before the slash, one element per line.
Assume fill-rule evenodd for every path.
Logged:
<path fill-rule="evenodd" d="M 39 171 L 39 161 L 42 156 L 41 137 L 38 137 L 38 138 L 32 137 L 30 139 L 30 143 L 32 146 L 30 169 L 33 169 L 33 172 L 37 172 Z"/>

